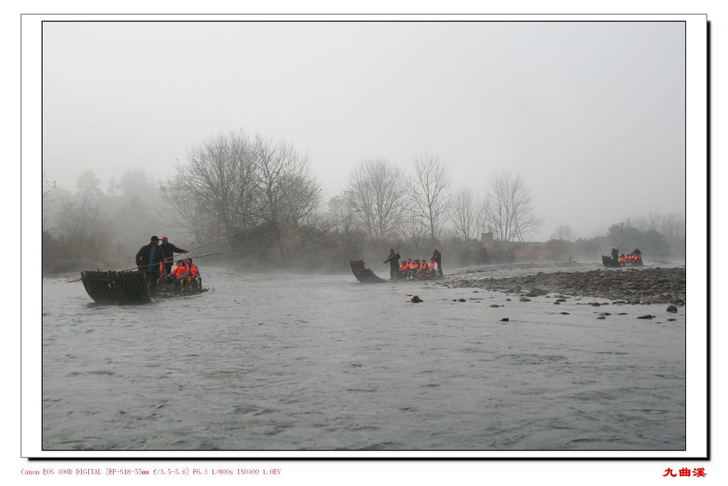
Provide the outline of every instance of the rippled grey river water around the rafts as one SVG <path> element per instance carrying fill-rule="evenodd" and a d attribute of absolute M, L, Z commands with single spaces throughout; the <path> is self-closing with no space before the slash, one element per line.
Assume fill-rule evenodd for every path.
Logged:
<path fill-rule="evenodd" d="M 43 278 L 45 450 L 685 448 L 684 307 L 202 272 L 141 306 Z"/>

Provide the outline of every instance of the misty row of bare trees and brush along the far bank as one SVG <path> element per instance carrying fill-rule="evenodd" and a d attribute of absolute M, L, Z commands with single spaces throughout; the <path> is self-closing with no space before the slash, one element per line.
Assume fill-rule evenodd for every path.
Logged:
<path fill-rule="evenodd" d="M 325 199 L 308 154 L 285 140 L 227 132 L 191 146 L 162 180 L 135 168 L 104 192 L 87 171 L 70 193 L 44 175 L 44 271 L 127 261 L 159 228 L 179 235 L 170 235 L 175 244 L 235 234 L 225 243 L 226 263 L 325 271 L 405 245 L 417 258 L 440 247 L 458 263 L 488 263 L 494 255 L 480 232 L 489 229 L 498 246 L 513 248 L 543 226 L 520 174 L 496 172 L 478 194 L 454 188 L 438 154 L 422 151 L 410 162 L 405 171 L 384 157 L 365 158 L 343 190 Z M 676 231 L 679 222 L 670 223 Z M 551 247 L 579 247 L 569 231 L 556 228 Z"/>

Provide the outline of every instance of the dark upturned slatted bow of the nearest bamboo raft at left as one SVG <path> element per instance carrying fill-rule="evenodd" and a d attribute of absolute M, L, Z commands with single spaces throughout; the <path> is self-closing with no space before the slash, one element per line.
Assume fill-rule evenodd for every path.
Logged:
<path fill-rule="evenodd" d="M 99 303 L 147 303 L 149 286 L 141 271 L 82 271 L 86 292 Z"/>

